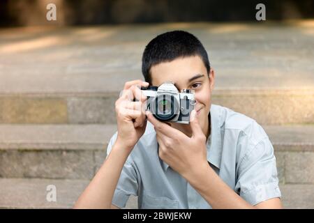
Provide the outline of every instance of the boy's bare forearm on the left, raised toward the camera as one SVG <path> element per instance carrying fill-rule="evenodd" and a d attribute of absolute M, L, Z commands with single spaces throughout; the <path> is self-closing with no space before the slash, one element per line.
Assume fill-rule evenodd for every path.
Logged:
<path fill-rule="evenodd" d="M 116 142 L 74 208 L 110 208 L 114 190 L 128 155 L 128 150 Z"/>

